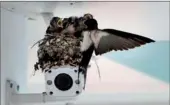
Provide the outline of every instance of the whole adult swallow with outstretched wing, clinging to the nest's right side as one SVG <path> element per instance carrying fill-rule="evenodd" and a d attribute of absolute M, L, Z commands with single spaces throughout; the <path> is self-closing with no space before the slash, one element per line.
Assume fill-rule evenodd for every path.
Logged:
<path fill-rule="evenodd" d="M 83 24 L 85 25 L 83 25 L 84 28 L 80 28 L 82 29 L 82 31 L 80 32 L 82 33 L 81 36 L 83 37 L 83 41 L 80 47 L 82 59 L 79 64 L 78 74 L 82 72 L 84 74 L 85 80 L 87 76 L 88 65 L 94 51 L 96 55 L 101 55 L 112 50 L 123 51 L 139 47 L 146 43 L 155 42 L 150 38 L 120 30 L 98 29 L 98 23 L 95 19 L 93 19 L 93 17 L 84 21 Z M 74 30 L 78 29 L 74 25 L 72 25 L 71 27 Z M 76 33 L 73 31 L 69 31 L 69 27 L 66 29 L 66 32 Z"/>

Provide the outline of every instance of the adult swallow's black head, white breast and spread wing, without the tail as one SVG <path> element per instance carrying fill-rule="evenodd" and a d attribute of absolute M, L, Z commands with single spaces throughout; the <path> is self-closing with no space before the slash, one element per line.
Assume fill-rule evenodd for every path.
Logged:
<path fill-rule="evenodd" d="M 95 54 L 101 55 L 112 50 L 123 51 L 155 42 L 144 36 L 115 29 L 100 30 L 95 19 L 87 20 L 85 24 L 89 28 L 82 33 L 84 36 L 81 46 L 82 52 L 86 51 L 91 45 L 95 47 Z"/>

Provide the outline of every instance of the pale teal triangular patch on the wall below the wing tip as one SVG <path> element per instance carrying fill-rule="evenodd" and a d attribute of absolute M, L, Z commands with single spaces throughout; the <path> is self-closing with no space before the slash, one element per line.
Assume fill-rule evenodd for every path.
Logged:
<path fill-rule="evenodd" d="M 112 51 L 104 57 L 169 83 L 169 45 L 170 41 L 160 41 L 129 51 Z"/>

